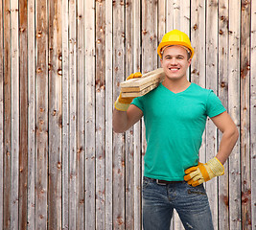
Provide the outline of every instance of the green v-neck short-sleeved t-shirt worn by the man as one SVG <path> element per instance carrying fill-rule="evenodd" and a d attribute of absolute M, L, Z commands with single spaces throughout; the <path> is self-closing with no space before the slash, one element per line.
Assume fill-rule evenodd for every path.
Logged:
<path fill-rule="evenodd" d="M 198 151 L 207 116 L 225 111 L 213 90 L 195 83 L 173 93 L 162 83 L 132 104 L 144 114 L 147 150 L 144 175 L 168 181 L 183 180 L 184 170 L 198 165 Z"/>

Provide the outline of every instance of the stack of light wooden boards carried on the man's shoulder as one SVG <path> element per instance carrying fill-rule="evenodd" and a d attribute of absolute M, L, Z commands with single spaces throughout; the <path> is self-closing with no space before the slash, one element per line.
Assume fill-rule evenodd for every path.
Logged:
<path fill-rule="evenodd" d="M 121 83 L 122 97 L 141 97 L 156 88 L 164 77 L 163 69 L 159 68 L 144 74 L 141 78 L 124 81 Z"/>

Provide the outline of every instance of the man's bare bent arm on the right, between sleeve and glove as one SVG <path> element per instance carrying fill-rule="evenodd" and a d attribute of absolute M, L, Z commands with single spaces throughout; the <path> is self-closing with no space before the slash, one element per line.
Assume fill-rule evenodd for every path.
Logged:
<path fill-rule="evenodd" d="M 222 132 L 221 144 L 216 157 L 221 161 L 221 164 L 223 165 L 238 140 L 239 132 L 227 112 L 223 112 L 211 119 L 215 126 L 218 127 Z"/>

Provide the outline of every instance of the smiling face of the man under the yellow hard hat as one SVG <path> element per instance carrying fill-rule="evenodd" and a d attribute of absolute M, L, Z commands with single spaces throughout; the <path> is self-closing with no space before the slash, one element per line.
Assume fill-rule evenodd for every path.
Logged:
<path fill-rule="evenodd" d="M 186 78 L 186 71 L 190 66 L 188 52 L 181 46 L 170 46 L 164 50 L 161 65 L 166 77 L 172 81 Z"/>

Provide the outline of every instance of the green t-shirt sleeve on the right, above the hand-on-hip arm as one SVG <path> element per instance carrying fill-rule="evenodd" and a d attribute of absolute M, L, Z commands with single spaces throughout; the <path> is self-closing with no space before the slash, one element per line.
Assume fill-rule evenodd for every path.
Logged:
<path fill-rule="evenodd" d="M 226 109 L 221 104 L 221 100 L 215 95 L 213 90 L 210 91 L 206 104 L 206 115 L 210 118 L 220 115 Z"/>

